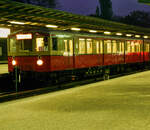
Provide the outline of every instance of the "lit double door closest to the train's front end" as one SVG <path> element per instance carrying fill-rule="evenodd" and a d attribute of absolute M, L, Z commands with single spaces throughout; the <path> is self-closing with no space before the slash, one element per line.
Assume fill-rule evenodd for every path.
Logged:
<path fill-rule="evenodd" d="M 73 68 L 73 39 L 63 39 L 64 44 L 64 64 L 66 69 Z"/>

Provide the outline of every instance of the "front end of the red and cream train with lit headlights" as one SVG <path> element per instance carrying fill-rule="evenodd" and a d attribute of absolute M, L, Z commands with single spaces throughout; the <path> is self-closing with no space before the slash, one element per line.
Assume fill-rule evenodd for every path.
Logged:
<path fill-rule="evenodd" d="M 19 32 L 8 39 L 8 70 L 11 74 L 43 73 L 50 71 L 49 34 Z M 29 75 L 31 76 L 31 75 Z"/>

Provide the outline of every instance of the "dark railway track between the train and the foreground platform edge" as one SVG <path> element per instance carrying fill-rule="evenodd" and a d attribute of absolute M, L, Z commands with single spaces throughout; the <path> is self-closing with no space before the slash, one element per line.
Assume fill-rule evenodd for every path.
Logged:
<path fill-rule="evenodd" d="M 112 75 L 112 76 L 110 76 L 110 79 L 125 76 L 125 75 L 130 75 L 130 74 L 134 74 L 134 73 L 138 73 L 138 72 L 143 72 L 143 71 L 147 71 L 147 70 L 145 69 L 145 70 L 140 70 L 140 71 L 135 71 L 135 72 L 130 72 L 130 73 Z M 49 82 L 46 82 L 42 86 L 40 86 L 36 89 L 31 89 L 31 90 L 24 89 L 24 90 L 19 90 L 17 92 L 15 90 L 10 91 L 10 92 L 1 91 L 0 92 L 0 102 L 6 102 L 6 101 L 10 101 L 10 100 L 16 100 L 16 99 L 35 96 L 35 95 L 39 95 L 39 94 L 59 91 L 59 90 L 63 90 L 63 89 L 69 89 L 72 87 L 77 87 L 77 86 L 81 86 L 81 85 L 85 85 L 85 84 L 89 84 L 89 83 L 95 83 L 98 81 L 103 81 L 103 78 L 102 77 L 101 78 L 94 77 L 94 78 L 88 78 L 88 79 L 84 79 L 84 80 L 80 80 L 80 81 L 72 81 L 72 82 L 70 81 L 68 83 L 57 83 L 57 84 L 53 84 L 53 85 L 51 85 Z"/>

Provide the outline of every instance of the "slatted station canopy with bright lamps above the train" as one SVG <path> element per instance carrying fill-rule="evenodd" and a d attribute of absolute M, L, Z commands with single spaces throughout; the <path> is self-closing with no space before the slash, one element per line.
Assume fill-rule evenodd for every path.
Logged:
<path fill-rule="evenodd" d="M 114 33 L 132 33 L 150 35 L 149 28 L 126 25 L 90 16 L 76 15 L 30 4 L 0 0 L 0 27 L 9 28 L 52 28 L 55 30 L 70 30 L 80 28 L 81 31 L 96 30 L 99 33 L 111 31 Z"/>

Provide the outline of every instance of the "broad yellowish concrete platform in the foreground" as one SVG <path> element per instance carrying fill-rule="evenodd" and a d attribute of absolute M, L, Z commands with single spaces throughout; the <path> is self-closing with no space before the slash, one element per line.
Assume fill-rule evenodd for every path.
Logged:
<path fill-rule="evenodd" d="M 0 130 L 149 130 L 150 71 L 0 104 Z"/>

